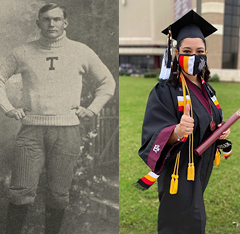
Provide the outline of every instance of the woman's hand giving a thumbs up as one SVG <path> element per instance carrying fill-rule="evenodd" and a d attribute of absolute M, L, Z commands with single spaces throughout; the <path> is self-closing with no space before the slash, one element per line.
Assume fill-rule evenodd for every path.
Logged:
<path fill-rule="evenodd" d="M 190 105 L 187 104 L 185 113 L 182 115 L 180 123 L 177 125 L 179 136 L 191 135 L 194 127 L 194 119 L 190 116 Z"/>

